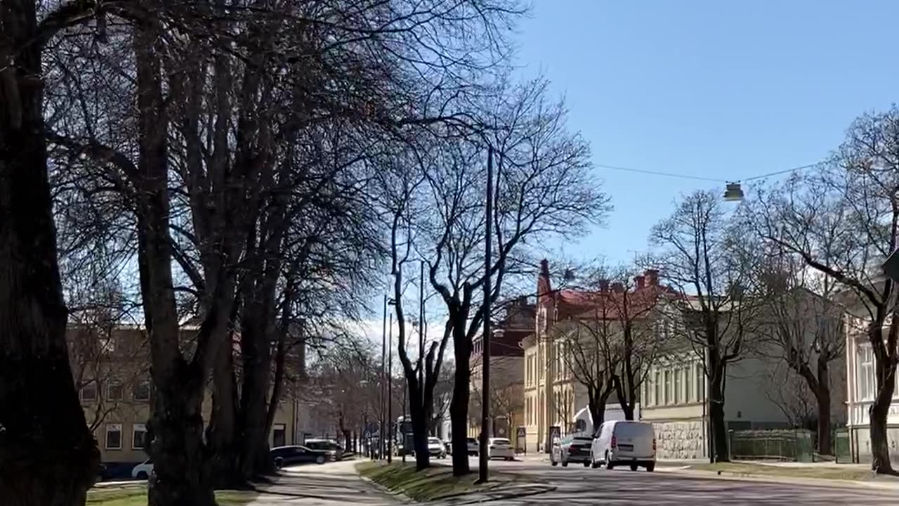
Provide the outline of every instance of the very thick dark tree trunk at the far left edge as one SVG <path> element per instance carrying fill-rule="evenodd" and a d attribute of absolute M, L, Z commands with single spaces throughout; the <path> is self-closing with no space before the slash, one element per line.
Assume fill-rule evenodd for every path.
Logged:
<path fill-rule="evenodd" d="M 100 452 L 68 361 L 34 9 L 0 8 L 0 502 L 73 506 Z"/>

